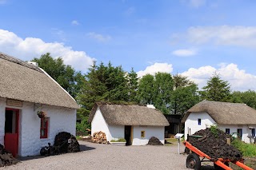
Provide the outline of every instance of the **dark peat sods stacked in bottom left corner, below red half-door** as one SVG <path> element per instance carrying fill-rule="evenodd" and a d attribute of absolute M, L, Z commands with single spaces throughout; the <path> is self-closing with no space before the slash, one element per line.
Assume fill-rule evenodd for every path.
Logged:
<path fill-rule="evenodd" d="M 0 144 L 0 167 L 17 164 L 19 161 Z"/>

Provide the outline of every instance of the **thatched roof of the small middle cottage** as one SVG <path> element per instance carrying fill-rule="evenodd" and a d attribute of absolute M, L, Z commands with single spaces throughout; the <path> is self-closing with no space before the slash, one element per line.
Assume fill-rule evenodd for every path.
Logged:
<path fill-rule="evenodd" d="M 168 126 L 166 117 L 157 109 L 142 105 L 109 105 L 94 104 L 90 112 L 89 122 L 93 121 L 96 110 L 100 109 L 108 125 L 150 125 Z"/>

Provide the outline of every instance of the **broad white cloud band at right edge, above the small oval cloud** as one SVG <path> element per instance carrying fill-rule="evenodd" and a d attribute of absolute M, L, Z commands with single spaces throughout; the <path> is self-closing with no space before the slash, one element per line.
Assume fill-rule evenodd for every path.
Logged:
<path fill-rule="evenodd" d="M 254 47 L 256 45 L 255 26 L 196 26 L 187 31 L 192 43 L 212 42 L 217 45 L 237 45 Z"/>

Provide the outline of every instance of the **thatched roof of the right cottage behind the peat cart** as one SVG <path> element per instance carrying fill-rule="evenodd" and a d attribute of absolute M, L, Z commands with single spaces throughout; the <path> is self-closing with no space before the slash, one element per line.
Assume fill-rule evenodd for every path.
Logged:
<path fill-rule="evenodd" d="M 190 108 L 182 119 L 186 121 L 190 113 L 206 112 L 219 125 L 255 125 L 256 110 L 246 104 L 219 101 L 201 101 Z"/>

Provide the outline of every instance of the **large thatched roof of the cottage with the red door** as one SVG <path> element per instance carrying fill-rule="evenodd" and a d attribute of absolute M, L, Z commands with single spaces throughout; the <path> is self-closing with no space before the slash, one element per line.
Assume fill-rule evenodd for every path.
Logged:
<path fill-rule="evenodd" d="M 78 109 L 78 104 L 38 66 L 0 53 L 0 97 Z"/>

